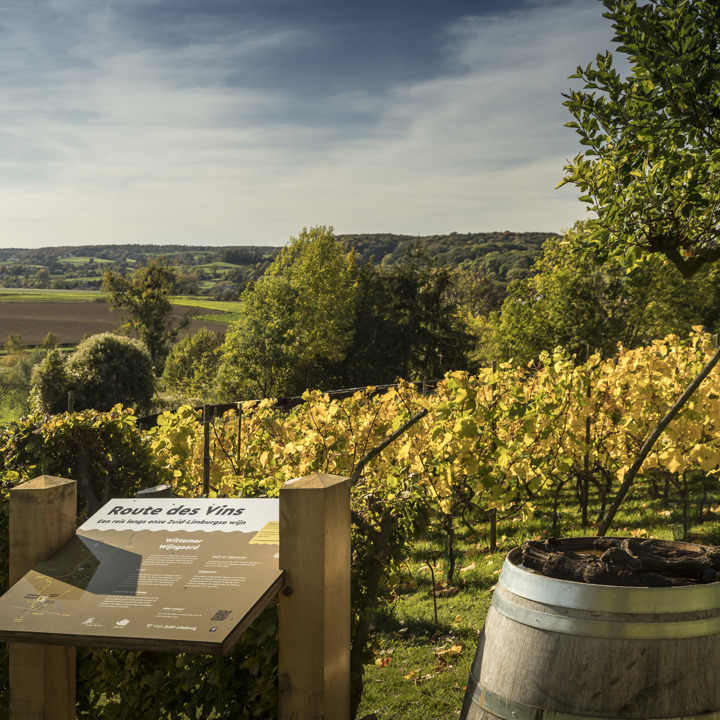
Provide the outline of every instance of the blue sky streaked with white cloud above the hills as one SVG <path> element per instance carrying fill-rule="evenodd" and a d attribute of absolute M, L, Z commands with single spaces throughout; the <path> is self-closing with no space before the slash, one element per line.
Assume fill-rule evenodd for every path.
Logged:
<path fill-rule="evenodd" d="M 4 0 L 0 246 L 561 232 L 599 0 Z M 576 81 L 577 82 L 577 81 Z"/>

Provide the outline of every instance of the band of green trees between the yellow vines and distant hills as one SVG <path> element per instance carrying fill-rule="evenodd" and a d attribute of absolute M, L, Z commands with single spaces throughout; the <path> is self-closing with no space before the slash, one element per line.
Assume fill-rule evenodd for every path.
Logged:
<path fill-rule="evenodd" d="M 619 345 L 686 336 L 696 325 L 720 329 L 720 271 L 710 267 L 686 280 L 660 258 L 628 269 L 592 252 L 588 232 L 578 224 L 546 240 L 532 274 L 506 287 L 476 268 L 441 265 L 415 243 L 393 264 L 363 263 L 331 228 L 311 228 L 246 283 L 242 313 L 223 336 L 178 336 L 169 300 L 177 272 L 167 258 L 126 274 L 108 270 L 105 289 L 130 313 L 125 329 L 148 348 L 155 380 L 135 402 L 150 412 L 308 388 L 437 380 L 493 361 L 526 365 L 556 347 L 581 362 L 596 351 L 612 357 Z M 20 367 L 20 357 L 8 352 L 0 376 L 10 378 L 10 363 Z M 53 352 L 38 370 L 32 407 L 63 410 L 70 390 L 103 398 L 99 409 L 127 401 L 121 369 L 90 392 L 85 378 L 103 378 L 102 369 L 65 375 L 65 359 Z"/>

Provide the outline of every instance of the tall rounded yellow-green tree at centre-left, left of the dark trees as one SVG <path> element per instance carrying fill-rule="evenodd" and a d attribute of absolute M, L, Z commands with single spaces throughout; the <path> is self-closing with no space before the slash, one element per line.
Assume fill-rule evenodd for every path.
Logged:
<path fill-rule="evenodd" d="M 304 229 L 251 290 L 223 346 L 225 397 L 300 394 L 352 340 L 356 267 L 332 228 Z"/>

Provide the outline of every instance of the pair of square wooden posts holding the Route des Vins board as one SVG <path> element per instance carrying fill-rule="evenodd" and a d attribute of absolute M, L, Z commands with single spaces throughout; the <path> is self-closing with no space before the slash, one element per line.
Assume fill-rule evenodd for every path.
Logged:
<path fill-rule="evenodd" d="M 43 475 L 10 491 L 11 584 L 75 534 L 76 507 L 73 480 Z M 349 720 L 350 558 L 348 478 L 314 473 L 287 483 L 280 491 L 280 720 Z M 73 720 L 74 647 L 27 638 L 9 647 L 11 720 Z"/>

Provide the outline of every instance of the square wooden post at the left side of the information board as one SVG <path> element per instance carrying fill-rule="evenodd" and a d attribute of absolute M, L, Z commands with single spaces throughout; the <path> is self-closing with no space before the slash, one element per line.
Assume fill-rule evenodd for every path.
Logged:
<path fill-rule="evenodd" d="M 74 534 L 77 484 L 41 475 L 10 491 L 10 585 Z M 75 648 L 10 643 L 10 720 L 74 720 Z"/>

